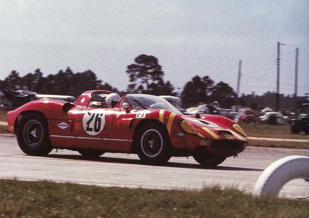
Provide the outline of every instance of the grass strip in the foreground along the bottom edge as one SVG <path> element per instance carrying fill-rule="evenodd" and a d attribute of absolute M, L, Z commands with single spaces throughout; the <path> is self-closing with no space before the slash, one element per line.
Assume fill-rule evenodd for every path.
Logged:
<path fill-rule="evenodd" d="M 309 217 L 308 201 L 201 191 L 0 180 L 1 217 Z"/>

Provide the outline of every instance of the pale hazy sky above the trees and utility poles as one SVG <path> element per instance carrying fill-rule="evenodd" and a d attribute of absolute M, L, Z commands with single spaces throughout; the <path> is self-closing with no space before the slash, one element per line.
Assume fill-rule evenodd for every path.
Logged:
<path fill-rule="evenodd" d="M 126 66 L 153 55 L 164 80 L 181 90 L 195 75 L 226 82 L 240 93 L 309 93 L 309 0 L 44 1 L 0 0 L 0 79 L 40 68 L 44 76 L 70 67 L 91 69 L 119 90 Z"/>

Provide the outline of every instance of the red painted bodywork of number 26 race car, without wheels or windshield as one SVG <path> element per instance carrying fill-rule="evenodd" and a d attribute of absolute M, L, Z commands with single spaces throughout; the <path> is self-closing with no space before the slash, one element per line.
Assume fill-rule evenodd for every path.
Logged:
<path fill-rule="evenodd" d="M 167 129 L 171 145 L 179 150 L 194 151 L 202 145 L 207 154 L 216 157 L 237 155 L 247 145 L 247 138 L 237 132 L 234 122 L 216 115 L 194 116 L 178 115 L 163 109 L 129 110 L 118 105 L 115 108 L 95 108 L 89 103 L 93 94 L 109 94 L 109 91 L 87 91 L 78 97 L 74 104 L 59 100 L 40 99 L 27 103 L 8 112 L 8 126 L 16 134 L 20 116 L 37 112 L 47 119 L 49 138 L 53 148 L 57 149 L 98 149 L 106 152 L 129 153 L 134 131 L 142 122 L 161 122 Z M 122 95 L 121 95 L 122 97 Z M 188 134 L 180 127 L 187 120 L 198 132 Z M 176 136 L 176 133 L 184 133 Z M 235 141 L 240 147 L 222 148 L 221 142 Z M 218 144 L 218 146 L 212 146 Z M 238 144 L 239 145 L 239 144 Z"/>

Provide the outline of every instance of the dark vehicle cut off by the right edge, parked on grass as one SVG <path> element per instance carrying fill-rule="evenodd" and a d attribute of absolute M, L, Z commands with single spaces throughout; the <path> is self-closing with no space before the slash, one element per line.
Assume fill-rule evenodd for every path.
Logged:
<path fill-rule="evenodd" d="M 299 132 L 309 134 L 309 96 L 307 96 L 307 101 L 302 104 L 297 119 L 291 120 L 290 130 L 294 134 Z"/>

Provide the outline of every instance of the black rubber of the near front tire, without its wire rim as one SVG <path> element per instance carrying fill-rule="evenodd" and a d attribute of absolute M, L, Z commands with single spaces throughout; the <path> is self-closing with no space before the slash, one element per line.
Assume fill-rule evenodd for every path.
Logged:
<path fill-rule="evenodd" d="M 141 142 L 142 136 L 146 131 L 150 129 L 158 131 L 163 141 L 162 149 L 155 157 L 148 157 L 142 150 L 142 142 Z M 171 141 L 165 126 L 147 123 L 138 130 L 136 140 L 134 141 L 138 157 L 141 159 L 142 162 L 146 164 L 162 165 L 165 164 L 171 158 L 171 150 L 172 150 Z"/>

